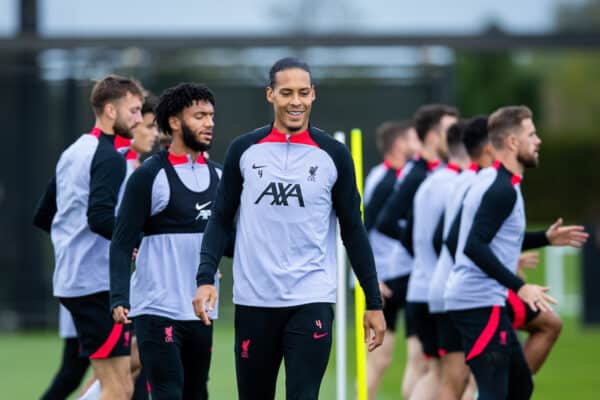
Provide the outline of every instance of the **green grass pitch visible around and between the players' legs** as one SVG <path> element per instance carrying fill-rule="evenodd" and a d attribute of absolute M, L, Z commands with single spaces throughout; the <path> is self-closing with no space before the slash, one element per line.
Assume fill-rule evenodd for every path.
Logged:
<path fill-rule="evenodd" d="M 399 335 L 401 336 L 401 335 Z M 352 337 L 348 338 L 349 349 Z M 563 334 L 548 362 L 535 377 L 534 399 L 597 399 L 600 393 L 600 328 L 584 329 L 574 320 L 566 320 Z M 54 333 L 20 333 L 0 335 L 0 398 L 35 399 L 44 390 L 57 367 L 61 341 Z M 353 352 L 348 354 L 348 376 L 354 376 Z M 382 382 L 379 399 L 400 398 L 404 366 L 404 341 L 400 338 L 395 361 Z M 282 367 L 283 369 L 283 367 Z M 348 394 L 354 393 L 354 382 L 349 378 Z M 277 399 L 284 399 L 283 380 L 280 377 Z M 210 393 L 213 399 L 235 398 L 235 370 L 233 364 L 233 328 L 230 322 L 216 325 Z M 322 399 L 335 399 L 335 354 L 321 390 Z"/>

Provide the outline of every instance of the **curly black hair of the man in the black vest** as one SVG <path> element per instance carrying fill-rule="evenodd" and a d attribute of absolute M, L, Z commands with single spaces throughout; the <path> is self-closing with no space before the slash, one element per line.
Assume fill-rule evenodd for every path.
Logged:
<path fill-rule="evenodd" d="M 214 106 L 215 96 L 208 87 L 198 83 L 180 83 L 165 89 L 154 108 L 158 129 L 172 134 L 169 118 L 178 115 L 195 101 L 206 101 Z"/>

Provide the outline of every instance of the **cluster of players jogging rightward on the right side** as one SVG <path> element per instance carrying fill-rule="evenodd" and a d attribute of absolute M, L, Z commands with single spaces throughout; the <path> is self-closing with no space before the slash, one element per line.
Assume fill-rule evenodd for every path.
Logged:
<path fill-rule="evenodd" d="M 526 232 L 521 181 L 541 144 L 525 106 L 459 120 L 446 105 L 377 132 L 383 162 L 365 185 L 365 225 L 387 332 L 368 354 L 369 398 L 392 362 L 405 310 L 410 399 L 528 399 L 561 330 L 548 288 L 526 284 L 545 245 L 580 247 L 581 226 Z M 522 348 L 515 330 L 529 337 Z M 523 351 L 524 350 L 524 351 Z M 471 375 L 472 373 L 472 375 Z M 474 379 L 471 378 L 474 376 Z"/>

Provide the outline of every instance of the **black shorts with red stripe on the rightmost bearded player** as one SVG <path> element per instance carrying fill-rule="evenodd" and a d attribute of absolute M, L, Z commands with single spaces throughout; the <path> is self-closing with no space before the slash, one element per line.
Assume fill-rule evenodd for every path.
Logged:
<path fill-rule="evenodd" d="M 467 363 L 484 353 L 512 354 L 521 349 L 504 307 L 482 307 L 448 314 L 462 337 Z"/>

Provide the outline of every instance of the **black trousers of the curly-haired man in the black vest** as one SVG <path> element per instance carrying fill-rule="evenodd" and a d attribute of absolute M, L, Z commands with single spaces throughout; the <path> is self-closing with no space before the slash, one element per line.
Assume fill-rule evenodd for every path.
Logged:
<path fill-rule="evenodd" d="M 156 315 L 133 323 L 152 398 L 207 399 L 213 325 Z"/>

